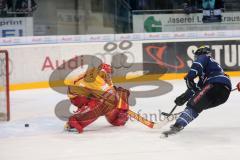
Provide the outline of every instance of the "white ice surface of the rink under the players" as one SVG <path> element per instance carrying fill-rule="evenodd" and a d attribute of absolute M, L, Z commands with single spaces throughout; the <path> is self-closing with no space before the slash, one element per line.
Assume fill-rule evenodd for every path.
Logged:
<path fill-rule="evenodd" d="M 232 78 L 233 87 L 240 78 Z M 185 89 L 183 80 L 168 81 L 173 90 L 153 98 L 139 98 L 131 109 L 141 113 L 169 112 Z M 135 90 L 148 90 L 141 86 Z M 113 127 L 99 118 L 83 134 L 63 131 L 64 121 L 54 109 L 66 99 L 52 89 L 11 92 L 11 121 L 0 125 L 1 160 L 204 160 L 239 159 L 240 93 L 234 91 L 218 108 L 203 112 L 181 133 L 162 139 L 161 130 L 130 120 Z M 177 111 L 184 109 L 178 107 Z M 24 127 L 28 123 L 29 127 Z M 166 128 L 165 128 L 166 129 Z"/>

